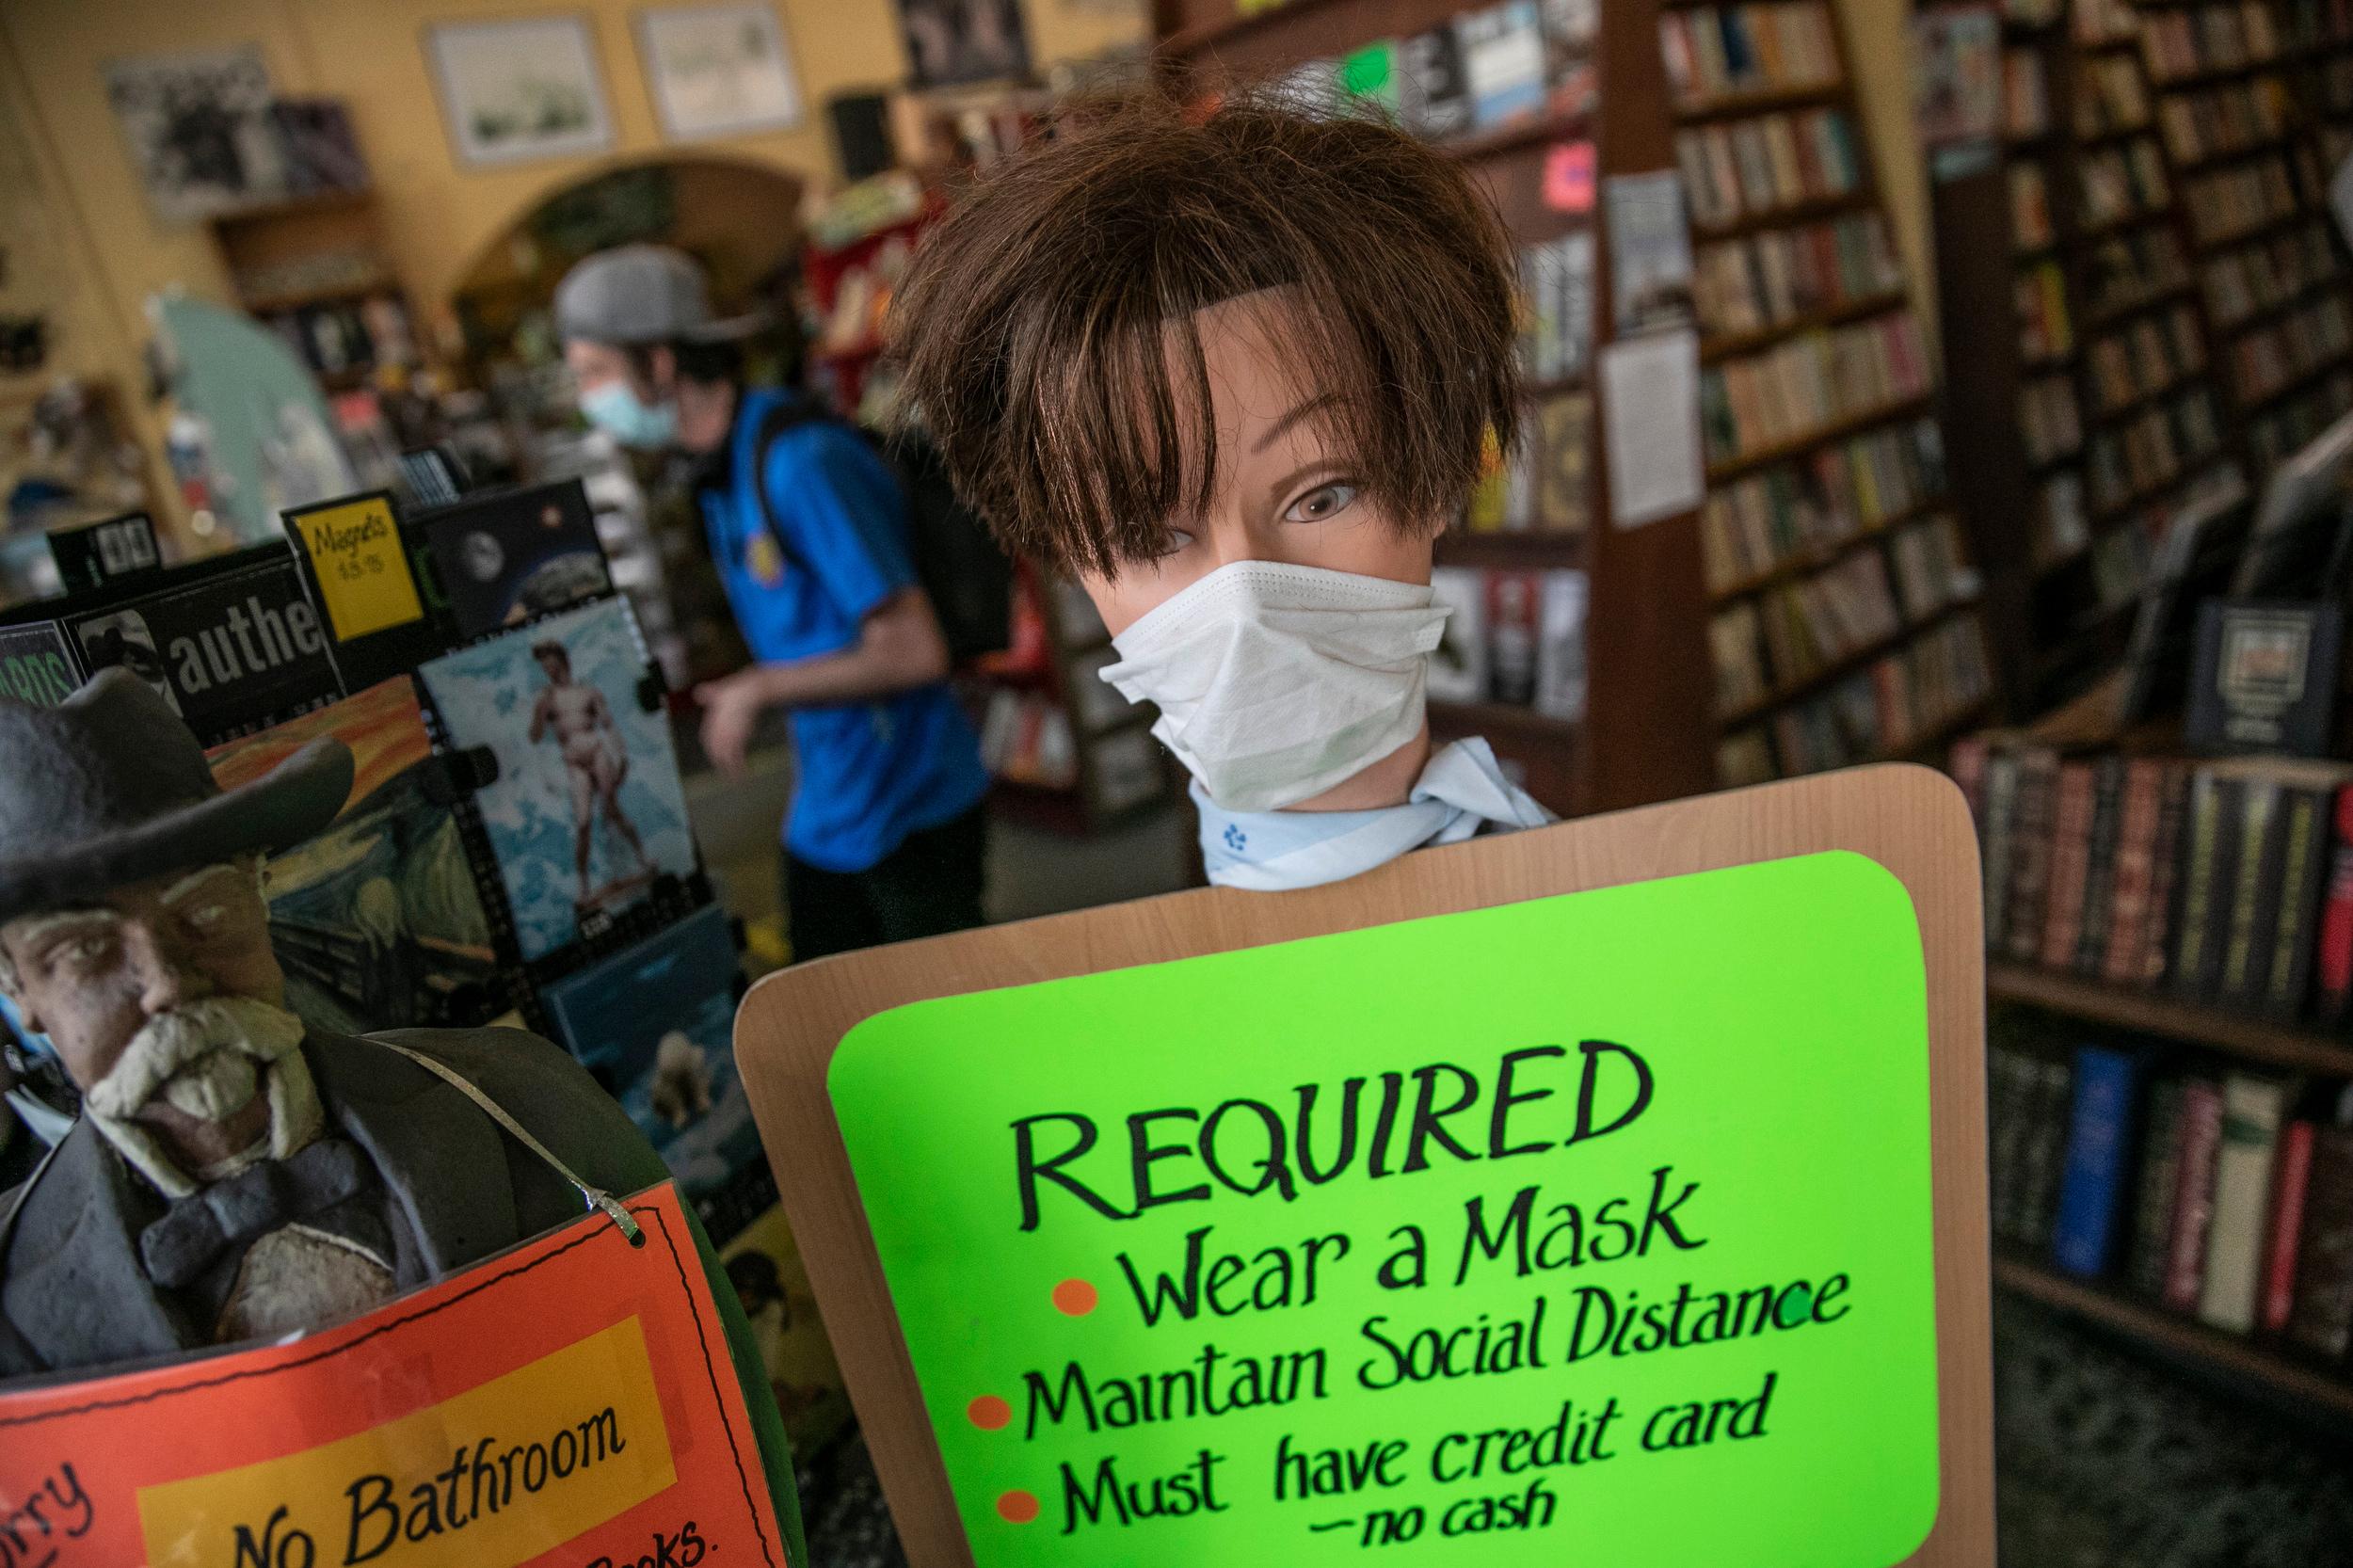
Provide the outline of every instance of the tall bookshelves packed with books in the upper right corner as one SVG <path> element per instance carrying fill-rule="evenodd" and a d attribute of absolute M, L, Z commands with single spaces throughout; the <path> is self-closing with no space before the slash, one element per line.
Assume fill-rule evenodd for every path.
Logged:
<path fill-rule="evenodd" d="M 2005 19 L 1995 165 L 1932 186 L 1955 464 L 2021 711 L 2122 655 L 2174 511 L 2353 407 L 2327 172 L 2344 0 L 2071 0 Z M 2337 97 L 2332 97 L 2337 94 Z M 2007 280 L 2019 341 L 1972 332 Z M 2012 438 L 2009 424 L 2024 426 Z"/>

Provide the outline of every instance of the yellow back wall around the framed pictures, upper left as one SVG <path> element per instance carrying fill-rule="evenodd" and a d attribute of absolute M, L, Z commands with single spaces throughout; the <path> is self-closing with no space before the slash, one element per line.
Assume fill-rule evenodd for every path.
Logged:
<path fill-rule="evenodd" d="M 104 64 L 127 54 L 259 45 L 278 92 L 351 104 L 376 177 L 393 268 L 419 306 L 433 308 L 475 254 L 539 198 L 600 165 L 631 162 L 664 146 L 638 64 L 638 9 L 645 0 L 7 0 L 0 5 L 0 49 L 7 54 L 0 87 L 19 87 L 7 108 L 28 118 L 26 137 L 59 151 L 66 217 L 82 231 L 96 292 L 118 318 L 127 313 L 139 323 L 155 290 L 179 285 L 224 301 L 231 292 L 202 224 L 162 224 L 148 212 L 106 106 Z M 838 177 L 824 101 L 906 75 L 896 16 L 889 0 L 776 0 L 776 9 L 805 122 L 694 146 L 774 162 L 824 188 Z M 424 31 L 435 21 L 527 14 L 588 19 L 614 148 L 598 158 L 459 167 L 442 129 Z M 1118 12 L 1024 0 L 1024 14 L 1040 64 L 1099 54 L 1144 35 L 1141 5 Z M 779 214 L 779 224 L 786 221 L 791 214 Z"/>

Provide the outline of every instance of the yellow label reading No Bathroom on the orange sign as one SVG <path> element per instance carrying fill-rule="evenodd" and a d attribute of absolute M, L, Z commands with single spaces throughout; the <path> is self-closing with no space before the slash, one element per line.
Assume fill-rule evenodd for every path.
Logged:
<path fill-rule="evenodd" d="M 675 1481 L 638 1318 L 348 1439 L 139 1488 L 151 1561 L 221 1519 L 376 1568 L 527 1563 Z"/>

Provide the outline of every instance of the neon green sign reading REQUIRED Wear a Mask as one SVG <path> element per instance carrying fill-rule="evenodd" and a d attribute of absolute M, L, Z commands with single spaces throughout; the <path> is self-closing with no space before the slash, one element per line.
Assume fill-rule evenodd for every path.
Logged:
<path fill-rule="evenodd" d="M 1882 1568 L 1927 1081 L 1838 852 L 918 1003 L 831 1095 L 981 1568 Z"/>

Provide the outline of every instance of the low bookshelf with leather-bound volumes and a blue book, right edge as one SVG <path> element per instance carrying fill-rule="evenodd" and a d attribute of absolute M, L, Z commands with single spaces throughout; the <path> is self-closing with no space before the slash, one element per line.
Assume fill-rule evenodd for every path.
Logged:
<path fill-rule="evenodd" d="M 1951 758 L 1984 843 L 1986 991 L 2009 1005 L 1995 1281 L 2341 1422 L 2353 843 L 2332 824 L 2353 770 L 2059 737 Z"/>

